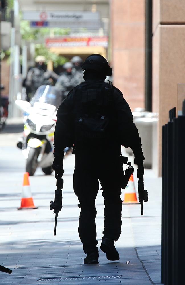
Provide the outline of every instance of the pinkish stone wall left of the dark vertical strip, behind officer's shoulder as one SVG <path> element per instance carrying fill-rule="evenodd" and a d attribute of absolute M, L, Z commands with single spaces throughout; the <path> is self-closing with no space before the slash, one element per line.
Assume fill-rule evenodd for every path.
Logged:
<path fill-rule="evenodd" d="M 134 111 L 145 107 L 145 0 L 112 0 L 110 11 L 114 85 Z"/>

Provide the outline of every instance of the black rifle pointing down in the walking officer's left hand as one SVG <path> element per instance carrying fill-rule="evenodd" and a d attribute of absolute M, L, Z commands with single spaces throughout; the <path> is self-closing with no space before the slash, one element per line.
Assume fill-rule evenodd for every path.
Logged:
<path fill-rule="evenodd" d="M 55 200 L 51 200 L 50 202 L 50 210 L 53 210 L 53 213 L 55 213 L 55 227 L 54 227 L 54 235 L 56 235 L 56 229 L 57 229 L 57 217 L 58 212 L 62 209 L 62 190 L 63 189 L 63 179 L 62 176 L 58 176 L 58 174 L 55 172 L 55 177 L 57 179 L 57 189 L 55 190 Z"/>

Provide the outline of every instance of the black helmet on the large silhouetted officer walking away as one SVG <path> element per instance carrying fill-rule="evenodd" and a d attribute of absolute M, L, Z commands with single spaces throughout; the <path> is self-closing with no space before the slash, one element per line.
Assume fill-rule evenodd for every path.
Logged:
<path fill-rule="evenodd" d="M 112 68 L 108 65 L 107 60 L 100 54 L 91 54 L 82 63 L 82 70 L 92 69 L 102 72 L 106 76 L 112 75 Z"/>

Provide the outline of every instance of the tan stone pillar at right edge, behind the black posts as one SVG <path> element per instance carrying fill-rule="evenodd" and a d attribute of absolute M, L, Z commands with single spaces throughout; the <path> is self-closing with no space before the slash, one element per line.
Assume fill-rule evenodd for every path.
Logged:
<path fill-rule="evenodd" d="M 153 111 L 159 113 L 156 143 L 157 173 L 161 175 L 162 125 L 178 106 L 178 83 L 185 83 L 185 1 L 153 1 Z"/>

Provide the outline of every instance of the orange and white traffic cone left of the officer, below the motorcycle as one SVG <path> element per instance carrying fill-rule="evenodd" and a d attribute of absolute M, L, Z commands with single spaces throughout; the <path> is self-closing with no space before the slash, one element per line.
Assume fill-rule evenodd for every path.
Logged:
<path fill-rule="evenodd" d="M 34 205 L 31 194 L 28 172 L 25 172 L 23 176 L 21 205 L 20 208 L 18 208 L 18 210 L 22 209 L 37 209 L 37 207 L 35 207 Z"/>

